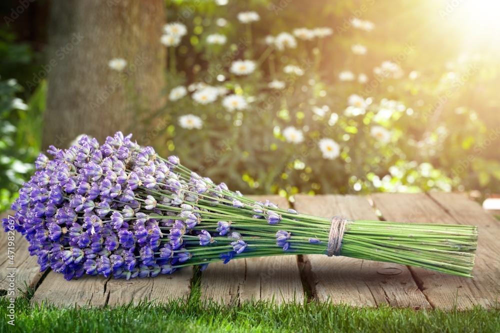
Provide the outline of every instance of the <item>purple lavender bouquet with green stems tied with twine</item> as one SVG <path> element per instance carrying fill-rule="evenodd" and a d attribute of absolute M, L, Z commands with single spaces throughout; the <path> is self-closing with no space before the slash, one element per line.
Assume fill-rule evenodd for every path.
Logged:
<path fill-rule="evenodd" d="M 41 270 L 66 279 L 169 274 L 182 266 L 280 254 L 344 255 L 470 276 L 477 228 L 331 219 L 256 202 L 117 132 L 83 136 L 19 190 L 2 219 L 30 243 Z"/>

